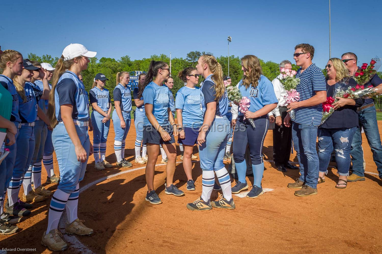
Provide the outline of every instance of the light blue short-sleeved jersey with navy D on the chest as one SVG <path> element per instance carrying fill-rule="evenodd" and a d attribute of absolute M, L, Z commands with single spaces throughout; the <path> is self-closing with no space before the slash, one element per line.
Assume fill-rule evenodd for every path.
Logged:
<path fill-rule="evenodd" d="M 240 80 L 238 88 L 241 92 L 241 96 L 249 99 L 250 112 L 256 112 L 268 104 L 278 103 L 272 82 L 263 75 L 260 76 L 259 84 L 256 87 L 250 85 L 248 89 L 246 89 L 243 85 L 243 80 Z M 243 115 L 243 113 L 239 111 L 239 115 Z"/>

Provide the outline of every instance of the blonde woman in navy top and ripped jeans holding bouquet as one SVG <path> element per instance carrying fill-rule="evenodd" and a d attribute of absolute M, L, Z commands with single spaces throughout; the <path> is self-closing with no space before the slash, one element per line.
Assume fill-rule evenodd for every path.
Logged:
<path fill-rule="evenodd" d="M 357 82 L 349 76 L 349 71 L 339 58 L 330 58 L 325 66 L 326 92 L 328 97 L 337 98 L 332 104 L 334 112 L 318 128 L 318 183 L 325 182 L 325 174 L 330 156 L 335 150 L 338 169 L 338 183 L 335 188 L 345 189 L 350 167 L 350 149 L 354 133 L 359 127 L 357 107 L 361 107 L 364 99 L 346 99 L 335 97 L 338 89 L 346 90 L 356 86 Z"/>

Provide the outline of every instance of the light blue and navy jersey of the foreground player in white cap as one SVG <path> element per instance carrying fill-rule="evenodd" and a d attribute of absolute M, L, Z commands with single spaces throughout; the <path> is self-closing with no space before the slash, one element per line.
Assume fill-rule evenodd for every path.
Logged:
<path fill-rule="evenodd" d="M 61 121 L 60 106 L 65 104 L 73 105 L 72 118 L 74 120 L 89 121 L 89 99 L 85 91 L 84 84 L 78 76 L 71 71 L 65 71 L 54 92 L 56 117 Z"/>

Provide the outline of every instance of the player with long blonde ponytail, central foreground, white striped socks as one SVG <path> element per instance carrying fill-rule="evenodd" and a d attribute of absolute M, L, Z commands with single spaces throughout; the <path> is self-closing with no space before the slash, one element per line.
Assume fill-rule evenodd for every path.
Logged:
<path fill-rule="evenodd" d="M 228 98 L 223 84 L 222 66 L 212 55 L 202 55 L 197 61 L 197 73 L 205 78 L 202 86 L 204 103 L 203 125 L 199 131 L 200 167 L 202 168 L 202 195 L 193 203 L 187 204 L 190 210 L 210 210 L 213 207 L 235 209 L 231 193 L 231 179 L 223 164 L 225 145 L 230 134 L 227 119 Z M 223 197 L 210 201 L 215 183 L 215 174 L 222 188 Z"/>

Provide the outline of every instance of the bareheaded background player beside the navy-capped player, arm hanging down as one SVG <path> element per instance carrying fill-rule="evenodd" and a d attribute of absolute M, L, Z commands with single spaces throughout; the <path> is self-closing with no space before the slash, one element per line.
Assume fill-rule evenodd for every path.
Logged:
<path fill-rule="evenodd" d="M 117 157 L 117 166 L 123 168 L 133 167 L 133 164 L 125 160 L 125 139 L 131 123 L 131 91 L 128 86 L 130 74 L 127 71 L 117 73 L 117 86 L 113 91 L 114 97 L 114 152 Z"/>

